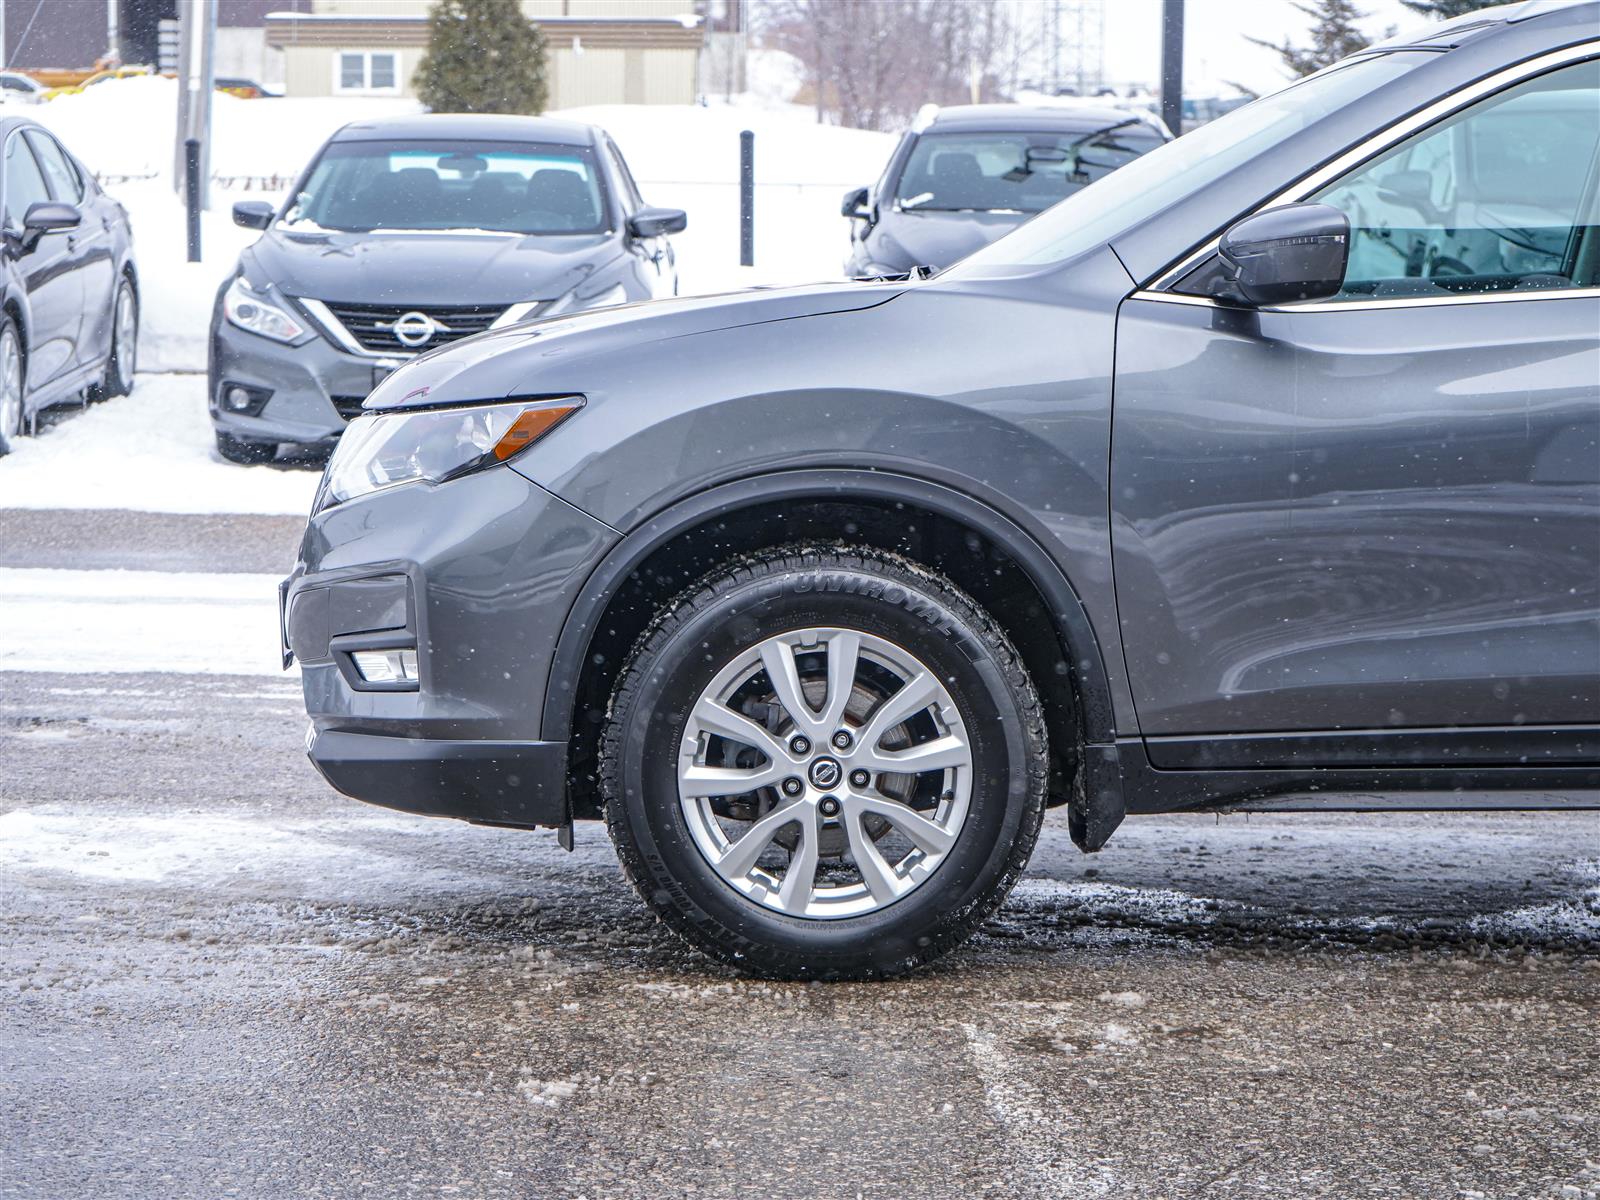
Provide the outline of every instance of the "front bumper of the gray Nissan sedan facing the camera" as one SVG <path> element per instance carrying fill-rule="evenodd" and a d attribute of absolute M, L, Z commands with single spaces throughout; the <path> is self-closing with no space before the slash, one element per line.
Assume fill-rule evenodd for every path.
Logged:
<path fill-rule="evenodd" d="M 331 445 L 355 416 L 366 394 L 406 362 L 403 355 L 374 358 L 349 354 L 317 336 L 285 346 L 246 333 L 226 320 L 211 331 L 211 422 L 246 442 Z M 259 414 L 245 416 L 219 406 L 227 384 L 272 392 Z"/>

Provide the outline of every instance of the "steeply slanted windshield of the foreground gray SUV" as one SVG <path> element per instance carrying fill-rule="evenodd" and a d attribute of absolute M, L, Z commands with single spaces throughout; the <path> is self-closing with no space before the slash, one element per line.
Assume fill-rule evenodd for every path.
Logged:
<path fill-rule="evenodd" d="M 1403 75 L 1424 58 L 1416 53 L 1381 54 L 1342 62 L 1234 109 L 1139 157 L 1094 187 L 1080 189 L 1045 216 L 1019 226 L 946 274 L 952 278 L 994 274 L 997 269 L 1005 274 L 1077 258 Z"/>

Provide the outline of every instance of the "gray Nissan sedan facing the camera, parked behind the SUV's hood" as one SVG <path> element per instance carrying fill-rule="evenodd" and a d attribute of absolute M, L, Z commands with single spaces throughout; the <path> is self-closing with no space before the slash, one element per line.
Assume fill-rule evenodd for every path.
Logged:
<path fill-rule="evenodd" d="M 558 312 L 677 293 L 669 234 L 616 142 L 541 117 L 346 125 L 264 230 L 211 317 L 210 408 L 232 462 L 325 446 L 422 350 Z"/>

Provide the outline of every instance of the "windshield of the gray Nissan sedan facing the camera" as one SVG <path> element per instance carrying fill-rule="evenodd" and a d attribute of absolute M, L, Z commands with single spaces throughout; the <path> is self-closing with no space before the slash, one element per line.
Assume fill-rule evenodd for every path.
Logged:
<path fill-rule="evenodd" d="M 333 142 L 283 214 L 288 229 L 606 229 L 594 155 L 538 142 Z"/>

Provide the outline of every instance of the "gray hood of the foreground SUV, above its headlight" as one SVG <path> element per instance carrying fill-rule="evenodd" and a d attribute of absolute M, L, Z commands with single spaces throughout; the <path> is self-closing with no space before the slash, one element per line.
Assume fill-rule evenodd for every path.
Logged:
<path fill-rule="evenodd" d="M 368 410 L 509 395 L 589 395 L 598 376 L 650 381 L 648 350 L 698 333 L 872 309 L 904 283 L 821 283 L 624 304 L 464 338 L 419 355 L 366 397 Z"/>

